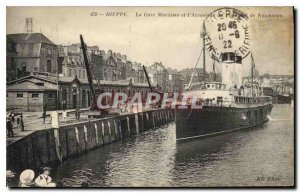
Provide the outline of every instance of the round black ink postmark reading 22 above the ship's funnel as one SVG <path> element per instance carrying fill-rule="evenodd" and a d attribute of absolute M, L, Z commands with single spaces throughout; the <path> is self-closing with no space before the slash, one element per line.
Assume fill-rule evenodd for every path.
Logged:
<path fill-rule="evenodd" d="M 235 8 L 220 8 L 203 22 L 205 48 L 218 62 L 241 61 L 250 53 L 247 14 Z"/>

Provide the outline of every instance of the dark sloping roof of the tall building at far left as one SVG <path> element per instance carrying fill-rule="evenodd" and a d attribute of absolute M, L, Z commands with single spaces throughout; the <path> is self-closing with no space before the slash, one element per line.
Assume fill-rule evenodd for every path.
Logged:
<path fill-rule="evenodd" d="M 42 33 L 7 34 L 7 37 L 19 44 L 46 43 L 50 45 L 55 45 Z"/>

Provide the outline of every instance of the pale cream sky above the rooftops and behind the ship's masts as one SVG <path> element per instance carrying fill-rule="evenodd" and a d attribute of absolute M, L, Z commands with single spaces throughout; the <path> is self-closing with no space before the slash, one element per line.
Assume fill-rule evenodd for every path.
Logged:
<path fill-rule="evenodd" d="M 56 44 L 85 42 L 101 50 L 113 50 L 128 59 L 151 65 L 193 68 L 201 51 L 200 32 L 205 14 L 219 7 L 7 7 L 7 34 L 24 33 L 25 18 L 33 18 L 33 32 L 42 32 Z M 292 7 L 238 7 L 249 19 L 250 43 L 260 74 L 294 74 L 294 26 Z M 91 16 L 97 12 L 98 16 Z M 126 12 L 126 16 L 106 16 Z M 195 13 L 199 17 L 157 17 L 158 13 Z M 137 17 L 136 15 L 140 15 Z M 153 16 L 155 14 L 155 16 Z M 282 17 L 259 17 L 259 15 Z M 206 60 L 212 69 L 213 60 Z M 250 57 L 243 60 L 249 74 Z M 198 67 L 202 67 L 200 60 Z"/>

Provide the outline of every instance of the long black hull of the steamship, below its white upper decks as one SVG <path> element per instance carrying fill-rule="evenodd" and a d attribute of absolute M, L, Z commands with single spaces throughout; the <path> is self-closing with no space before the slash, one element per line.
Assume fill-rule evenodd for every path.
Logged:
<path fill-rule="evenodd" d="M 268 121 L 272 105 L 235 108 L 203 106 L 202 109 L 176 109 L 176 140 L 207 137 L 252 128 Z"/>

